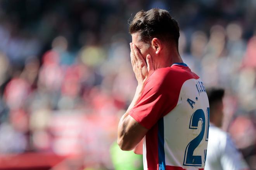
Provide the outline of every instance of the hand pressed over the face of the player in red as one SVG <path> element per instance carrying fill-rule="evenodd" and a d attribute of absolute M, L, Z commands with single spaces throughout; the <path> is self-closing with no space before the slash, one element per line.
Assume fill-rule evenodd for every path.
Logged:
<path fill-rule="evenodd" d="M 152 58 L 149 54 L 147 54 L 145 61 L 137 46 L 135 46 L 133 43 L 130 43 L 130 48 L 133 72 L 135 73 L 138 85 L 143 87 L 147 77 L 155 70 L 152 64 Z"/>

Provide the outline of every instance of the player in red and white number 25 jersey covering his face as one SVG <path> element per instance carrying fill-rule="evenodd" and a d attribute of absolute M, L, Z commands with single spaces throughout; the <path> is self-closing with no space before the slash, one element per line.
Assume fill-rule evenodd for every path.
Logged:
<path fill-rule="evenodd" d="M 119 121 L 119 147 L 143 153 L 144 170 L 203 169 L 208 97 L 178 53 L 178 23 L 168 11 L 153 8 L 138 12 L 129 31 L 138 86 Z"/>

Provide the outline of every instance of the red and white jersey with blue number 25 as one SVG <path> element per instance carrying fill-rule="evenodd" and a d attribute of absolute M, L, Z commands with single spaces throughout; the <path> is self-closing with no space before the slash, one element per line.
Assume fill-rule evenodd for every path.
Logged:
<path fill-rule="evenodd" d="M 149 129 L 144 170 L 204 169 L 209 102 L 204 83 L 186 64 L 155 70 L 129 114 Z"/>

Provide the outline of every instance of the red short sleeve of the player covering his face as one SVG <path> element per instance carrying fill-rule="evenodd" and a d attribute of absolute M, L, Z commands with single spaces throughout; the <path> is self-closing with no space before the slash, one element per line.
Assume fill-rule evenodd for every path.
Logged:
<path fill-rule="evenodd" d="M 142 96 L 129 112 L 131 117 L 147 129 L 152 128 L 177 103 L 170 97 L 171 82 L 168 75 L 156 71 L 147 80 Z"/>

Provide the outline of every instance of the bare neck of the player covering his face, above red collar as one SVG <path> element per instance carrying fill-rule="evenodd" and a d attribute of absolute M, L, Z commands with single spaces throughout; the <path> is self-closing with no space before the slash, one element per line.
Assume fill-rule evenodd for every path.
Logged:
<path fill-rule="evenodd" d="M 160 59 L 161 58 L 161 59 Z M 155 69 L 170 67 L 174 63 L 183 63 L 178 51 L 168 51 L 159 56 L 159 61 L 154 62 Z"/>

